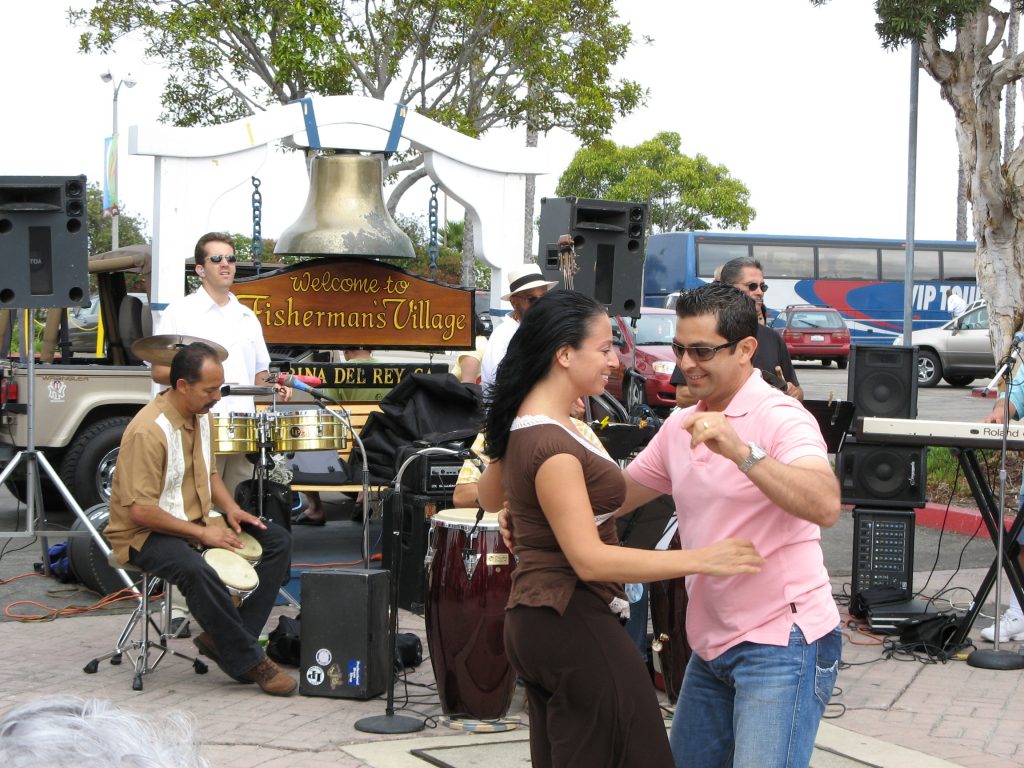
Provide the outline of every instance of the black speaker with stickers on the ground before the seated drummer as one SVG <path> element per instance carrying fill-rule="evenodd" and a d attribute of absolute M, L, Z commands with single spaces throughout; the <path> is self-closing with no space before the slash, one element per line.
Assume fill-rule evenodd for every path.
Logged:
<path fill-rule="evenodd" d="M 302 574 L 299 693 L 373 698 L 387 688 L 388 572 L 321 570 Z"/>

